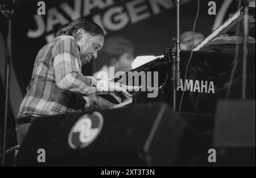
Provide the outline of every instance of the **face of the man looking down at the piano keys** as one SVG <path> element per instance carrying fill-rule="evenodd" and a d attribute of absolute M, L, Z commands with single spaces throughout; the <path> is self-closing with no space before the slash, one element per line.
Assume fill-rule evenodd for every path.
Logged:
<path fill-rule="evenodd" d="M 80 40 L 77 41 L 80 47 L 80 58 L 82 65 L 90 63 L 93 58 L 97 58 L 98 51 L 104 44 L 104 37 L 102 35 L 92 36 L 87 32 L 84 32 L 80 36 Z"/>

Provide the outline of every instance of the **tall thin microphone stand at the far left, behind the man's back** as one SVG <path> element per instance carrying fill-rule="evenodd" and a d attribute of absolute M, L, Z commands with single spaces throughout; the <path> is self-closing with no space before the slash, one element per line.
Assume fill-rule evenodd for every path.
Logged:
<path fill-rule="evenodd" d="M 2 159 L 1 163 L 5 164 L 6 154 L 6 132 L 7 132 L 7 118 L 9 111 L 9 80 L 10 80 L 10 62 L 12 59 L 12 46 L 11 46 L 11 28 L 12 18 L 14 15 L 15 0 L 8 5 L 0 5 L 0 12 L 8 19 L 8 35 L 6 39 L 6 56 L 5 56 L 5 117 L 3 121 L 3 134 L 2 134 Z M 10 5 L 10 6 L 9 6 Z"/>

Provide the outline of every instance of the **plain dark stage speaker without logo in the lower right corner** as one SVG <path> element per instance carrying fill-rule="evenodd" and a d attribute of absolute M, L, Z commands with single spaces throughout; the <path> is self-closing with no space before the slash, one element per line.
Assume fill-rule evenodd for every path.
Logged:
<path fill-rule="evenodd" d="M 255 166 L 255 100 L 218 103 L 214 146 L 218 166 Z"/>

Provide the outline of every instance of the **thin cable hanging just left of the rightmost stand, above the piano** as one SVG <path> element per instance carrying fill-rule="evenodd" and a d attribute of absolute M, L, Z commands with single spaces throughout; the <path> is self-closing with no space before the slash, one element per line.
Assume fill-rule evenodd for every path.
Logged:
<path fill-rule="evenodd" d="M 239 1 L 238 9 L 241 8 L 241 5 L 242 5 L 242 2 Z M 237 23 L 236 36 L 239 35 L 239 31 L 240 31 L 240 22 Z M 231 91 L 231 86 L 232 86 L 232 82 L 233 82 L 233 79 L 234 79 L 234 74 L 236 73 L 236 69 L 237 69 L 238 57 L 239 57 L 239 44 L 237 43 L 236 44 L 236 54 L 235 54 L 235 58 L 234 58 L 234 65 L 233 65 L 232 73 L 231 73 L 230 78 L 229 78 L 228 91 L 226 92 L 226 100 L 228 100 L 229 96 L 230 96 L 230 91 Z"/>

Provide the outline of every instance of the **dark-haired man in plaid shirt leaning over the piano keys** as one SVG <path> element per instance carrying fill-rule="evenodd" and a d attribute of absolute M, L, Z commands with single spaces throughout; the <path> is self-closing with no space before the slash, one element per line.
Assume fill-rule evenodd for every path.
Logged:
<path fill-rule="evenodd" d="M 106 84 L 106 80 L 81 73 L 82 65 L 97 58 L 104 37 L 104 31 L 96 23 L 79 19 L 61 29 L 53 41 L 40 49 L 17 117 L 19 145 L 36 117 L 80 112 L 94 106 L 112 108 L 113 103 L 97 96 L 102 90 L 121 91 L 127 98 L 131 97 L 120 84 Z M 122 101 L 115 92 L 110 95 Z"/>

